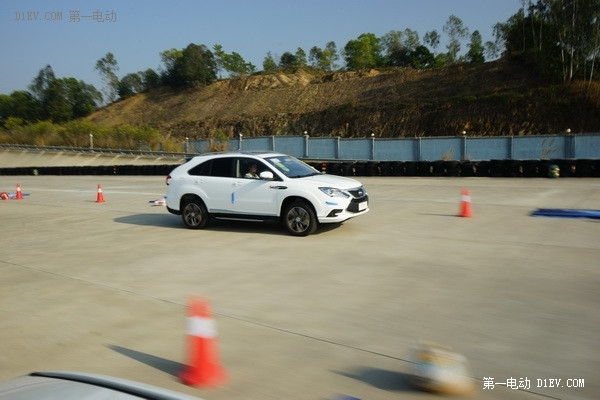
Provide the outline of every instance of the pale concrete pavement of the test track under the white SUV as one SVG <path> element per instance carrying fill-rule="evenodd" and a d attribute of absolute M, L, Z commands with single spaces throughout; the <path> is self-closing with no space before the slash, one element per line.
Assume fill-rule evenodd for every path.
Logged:
<path fill-rule="evenodd" d="M 0 191 L 29 194 L 0 201 L 0 379 L 79 370 L 208 400 L 432 398 L 409 383 L 409 351 L 428 340 L 469 359 L 474 398 L 598 398 L 600 225 L 530 213 L 600 209 L 600 180 L 359 179 L 368 214 L 296 238 L 187 230 L 148 204 L 162 177 L 0 176 Z M 463 187 L 472 218 L 456 217 Z M 215 313 L 229 376 L 216 388 L 176 377 L 191 294 Z"/>

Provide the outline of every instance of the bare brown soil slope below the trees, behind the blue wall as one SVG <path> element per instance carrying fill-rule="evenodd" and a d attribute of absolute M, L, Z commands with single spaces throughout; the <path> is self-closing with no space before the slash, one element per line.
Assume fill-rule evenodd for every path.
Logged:
<path fill-rule="evenodd" d="M 600 89 L 549 86 L 502 61 L 435 70 L 323 73 L 298 69 L 161 88 L 111 104 L 89 119 L 152 125 L 167 136 L 376 137 L 597 132 Z"/>

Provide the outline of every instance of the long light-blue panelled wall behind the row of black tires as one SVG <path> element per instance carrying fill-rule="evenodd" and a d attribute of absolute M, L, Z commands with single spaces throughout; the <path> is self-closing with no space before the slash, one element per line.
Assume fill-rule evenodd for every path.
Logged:
<path fill-rule="evenodd" d="M 501 137 L 321 138 L 269 136 L 217 142 L 191 141 L 187 148 L 203 153 L 215 144 L 229 150 L 274 150 L 317 160 L 483 161 L 600 159 L 600 134 Z"/>

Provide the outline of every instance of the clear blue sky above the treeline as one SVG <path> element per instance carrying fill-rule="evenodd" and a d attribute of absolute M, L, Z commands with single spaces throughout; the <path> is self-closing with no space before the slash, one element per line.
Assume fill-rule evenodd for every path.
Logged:
<path fill-rule="evenodd" d="M 111 52 L 119 78 L 161 69 L 160 53 L 190 43 L 220 44 L 262 70 L 301 47 L 335 42 L 338 50 L 362 33 L 381 37 L 411 29 L 447 37 L 450 15 L 469 32 L 493 40 L 492 27 L 521 7 L 521 0 L 2 0 L 0 93 L 28 90 L 46 65 L 57 78 L 76 78 L 102 90 L 96 62 Z M 466 45 L 463 46 L 463 52 Z"/>

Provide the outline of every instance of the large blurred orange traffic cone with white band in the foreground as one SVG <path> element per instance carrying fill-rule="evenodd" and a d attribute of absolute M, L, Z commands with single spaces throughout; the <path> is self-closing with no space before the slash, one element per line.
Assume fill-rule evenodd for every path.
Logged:
<path fill-rule="evenodd" d="M 217 386 L 226 379 L 217 354 L 217 327 L 207 301 L 190 300 L 187 318 L 189 363 L 179 377 L 186 385 Z"/>

